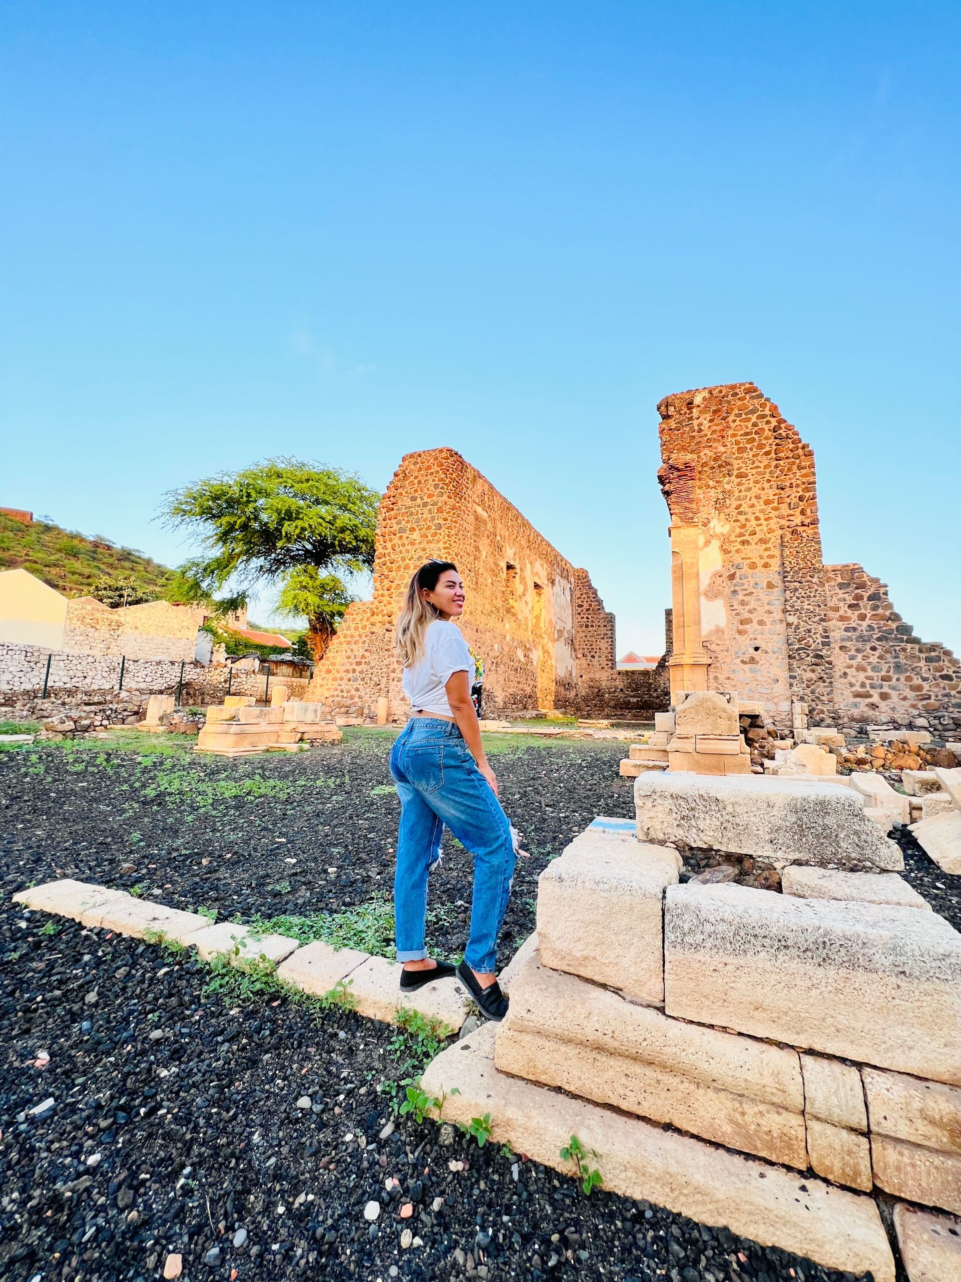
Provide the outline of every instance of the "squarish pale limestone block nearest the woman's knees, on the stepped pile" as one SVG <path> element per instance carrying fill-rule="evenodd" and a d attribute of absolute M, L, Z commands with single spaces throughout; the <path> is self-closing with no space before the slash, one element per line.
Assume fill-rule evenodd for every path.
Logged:
<path fill-rule="evenodd" d="M 582 833 L 538 879 L 545 964 L 664 1001 L 661 900 L 677 879 L 674 850 Z"/>

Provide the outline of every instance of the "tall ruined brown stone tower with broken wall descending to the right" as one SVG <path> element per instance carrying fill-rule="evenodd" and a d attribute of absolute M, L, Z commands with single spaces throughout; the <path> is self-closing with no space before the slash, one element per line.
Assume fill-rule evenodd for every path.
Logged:
<path fill-rule="evenodd" d="M 753 383 L 666 396 L 671 692 L 737 691 L 792 724 L 961 727 L 961 663 L 861 565 L 825 565 L 814 454 Z"/>

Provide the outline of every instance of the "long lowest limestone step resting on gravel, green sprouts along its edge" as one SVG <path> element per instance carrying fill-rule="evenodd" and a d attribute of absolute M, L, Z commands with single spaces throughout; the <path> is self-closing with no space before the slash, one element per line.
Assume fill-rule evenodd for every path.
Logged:
<path fill-rule="evenodd" d="M 445 1120 L 468 1124 L 489 1113 L 496 1144 L 510 1144 L 568 1174 L 571 1164 L 560 1160 L 560 1150 L 577 1135 L 598 1154 L 592 1160 L 611 1192 L 727 1226 L 826 1268 L 870 1269 L 875 1282 L 894 1282 L 893 1256 L 871 1199 L 507 1077 L 493 1064 L 493 1036 L 489 1024 L 478 1029 L 425 1070 L 427 1094 L 447 1092 Z M 460 1094 L 450 1095 L 452 1087 Z"/>

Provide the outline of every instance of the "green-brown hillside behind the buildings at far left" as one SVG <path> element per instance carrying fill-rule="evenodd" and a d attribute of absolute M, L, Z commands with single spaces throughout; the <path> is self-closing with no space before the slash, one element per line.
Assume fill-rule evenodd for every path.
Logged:
<path fill-rule="evenodd" d="M 129 547 L 45 520 L 24 526 L 0 513 L 0 569 L 19 567 L 67 596 L 85 596 L 100 579 L 110 578 L 161 597 L 174 578 L 173 570 Z"/>

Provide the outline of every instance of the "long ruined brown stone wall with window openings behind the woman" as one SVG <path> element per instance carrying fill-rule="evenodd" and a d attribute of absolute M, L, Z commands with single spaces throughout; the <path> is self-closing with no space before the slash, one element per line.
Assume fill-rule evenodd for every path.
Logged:
<path fill-rule="evenodd" d="M 407 454 L 381 503 L 369 601 L 351 605 L 316 668 L 310 697 L 334 714 L 373 717 L 387 696 L 402 717 L 393 628 L 414 570 L 456 563 L 460 627 L 484 659 L 483 712 L 584 710 L 616 688 L 614 615 L 575 569 L 456 450 Z"/>

